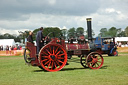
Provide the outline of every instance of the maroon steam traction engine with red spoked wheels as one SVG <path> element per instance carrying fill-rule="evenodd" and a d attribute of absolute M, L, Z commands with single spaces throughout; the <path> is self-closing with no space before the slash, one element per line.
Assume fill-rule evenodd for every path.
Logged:
<path fill-rule="evenodd" d="M 88 27 L 91 27 L 90 18 L 87 19 L 87 23 Z M 91 39 L 90 37 L 89 42 L 82 42 L 82 39 L 80 39 L 79 43 L 65 43 L 63 39 L 52 38 L 48 44 L 42 47 L 39 54 L 36 54 L 36 46 L 27 42 L 24 59 L 27 64 L 54 72 L 61 70 L 66 65 L 67 59 L 71 58 L 72 55 L 78 55 L 84 68 L 88 66 L 91 69 L 99 69 L 104 60 L 100 53 L 94 52 L 94 44 Z"/>

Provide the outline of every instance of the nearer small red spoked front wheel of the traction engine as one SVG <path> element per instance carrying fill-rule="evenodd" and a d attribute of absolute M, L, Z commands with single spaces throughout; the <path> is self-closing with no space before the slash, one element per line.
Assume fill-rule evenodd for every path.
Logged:
<path fill-rule="evenodd" d="M 86 59 L 87 65 L 91 69 L 99 69 L 104 63 L 104 59 L 101 54 L 97 52 L 91 52 Z"/>

